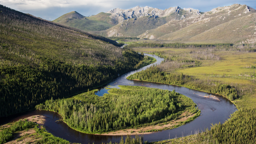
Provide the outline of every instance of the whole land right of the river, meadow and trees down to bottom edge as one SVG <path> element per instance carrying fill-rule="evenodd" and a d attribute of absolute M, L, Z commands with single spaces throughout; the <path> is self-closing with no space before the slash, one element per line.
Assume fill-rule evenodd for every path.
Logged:
<path fill-rule="evenodd" d="M 170 77 L 175 74 L 177 76 L 184 76 L 180 79 L 187 82 L 187 84 L 181 82 L 180 86 L 200 88 L 210 93 L 220 92 L 222 96 L 228 98 L 238 108 L 238 111 L 234 112 L 228 120 L 212 126 L 210 131 L 206 130 L 206 132 L 202 133 L 200 131 L 192 136 L 182 136 L 182 138 L 170 141 L 164 140 L 160 141 L 160 143 L 201 143 L 206 141 L 212 143 L 256 142 L 254 140 L 256 125 L 251 123 L 252 120 L 256 119 L 254 114 L 256 105 L 254 57 L 256 53 L 254 51 L 246 51 L 244 47 L 238 50 L 228 46 L 207 47 L 197 50 L 192 48 L 135 49 L 139 52 L 151 54 L 154 52 L 154 54 L 166 58 L 166 61 L 158 66 L 160 69 L 159 77 L 166 76 L 165 72 L 170 73 L 168 75 Z M 150 73 L 150 76 L 152 76 L 152 73 Z M 174 79 L 168 76 L 166 76 L 166 79 L 169 78 L 169 81 L 174 81 Z M 131 79 L 138 78 L 134 77 Z M 146 81 L 148 79 L 144 78 Z M 159 81 L 165 83 L 166 79 Z M 155 80 L 157 80 L 156 76 L 149 81 L 154 82 Z M 204 95 L 199 96 L 210 98 Z M 191 140 L 191 138 L 194 140 Z"/>

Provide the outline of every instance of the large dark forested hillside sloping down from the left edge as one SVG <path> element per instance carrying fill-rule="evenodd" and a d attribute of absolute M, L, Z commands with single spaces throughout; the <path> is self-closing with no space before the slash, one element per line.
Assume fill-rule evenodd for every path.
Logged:
<path fill-rule="evenodd" d="M 0 5 L 0 116 L 105 84 L 143 55 L 115 41 Z"/>

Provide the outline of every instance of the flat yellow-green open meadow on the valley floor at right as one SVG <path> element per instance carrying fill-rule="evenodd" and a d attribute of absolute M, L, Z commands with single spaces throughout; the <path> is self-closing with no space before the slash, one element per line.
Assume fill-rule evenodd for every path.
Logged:
<path fill-rule="evenodd" d="M 240 100 L 232 101 L 237 106 L 243 108 L 252 108 L 256 106 L 256 82 L 254 68 L 246 68 L 256 65 L 256 53 L 237 53 L 237 52 L 217 52 L 221 58 L 212 66 L 202 66 L 195 68 L 186 68 L 177 70 L 183 74 L 195 76 L 197 78 L 210 78 L 212 80 L 219 80 L 226 84 L 239 84 L 244 87 L 244 90 L 250 88 L 248 93 L 244 94 Z M 220 78 L 218 76 L 225 75 Z M 216 77 L 215 77 L 216 76 Z"/>

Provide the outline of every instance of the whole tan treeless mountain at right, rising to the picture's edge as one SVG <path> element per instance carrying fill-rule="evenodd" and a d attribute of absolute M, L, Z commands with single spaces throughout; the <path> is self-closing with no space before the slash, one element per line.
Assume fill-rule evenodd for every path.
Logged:
<path fill-rule="evenodd" d="M 253 8 L 233 4 L 214 8 L 199 16 L 168 22 L 138 37 L 174 42 L 242 42 L 246 39 L 253 42 L 255 14 Z"/>

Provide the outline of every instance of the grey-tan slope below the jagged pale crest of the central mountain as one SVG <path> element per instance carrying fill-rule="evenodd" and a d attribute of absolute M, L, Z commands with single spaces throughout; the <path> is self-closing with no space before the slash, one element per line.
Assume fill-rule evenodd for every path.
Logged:
<path fill-rule="evenodd" d="M 199 13 L 200 14 L 200 13 Z M 159 17 L 156 15 L 152 16 L 140 16 L 139 18 L 129 18 L 120 22 L 118 25 L 113 26 L 112 28 L 100 32 L 92 32 L 94 34 L 98 34 L 105 37 L 110 36 L 128 36 L 134 37 L 139 36 L 140 34 L 146 32 L 151 29 L 158 29 L 158 27 L 166 24 L 167 22 L 176 22 L 177 20 L 184 19 L 185 17 L 194 16 L 193 12 L 189 12 L 187 10 L 183 10 L 178 8 L 174 11 L 169 12 L 168 14 L 164 14 Z M 154 36 L 148 37 L 154 38 Z"/>

